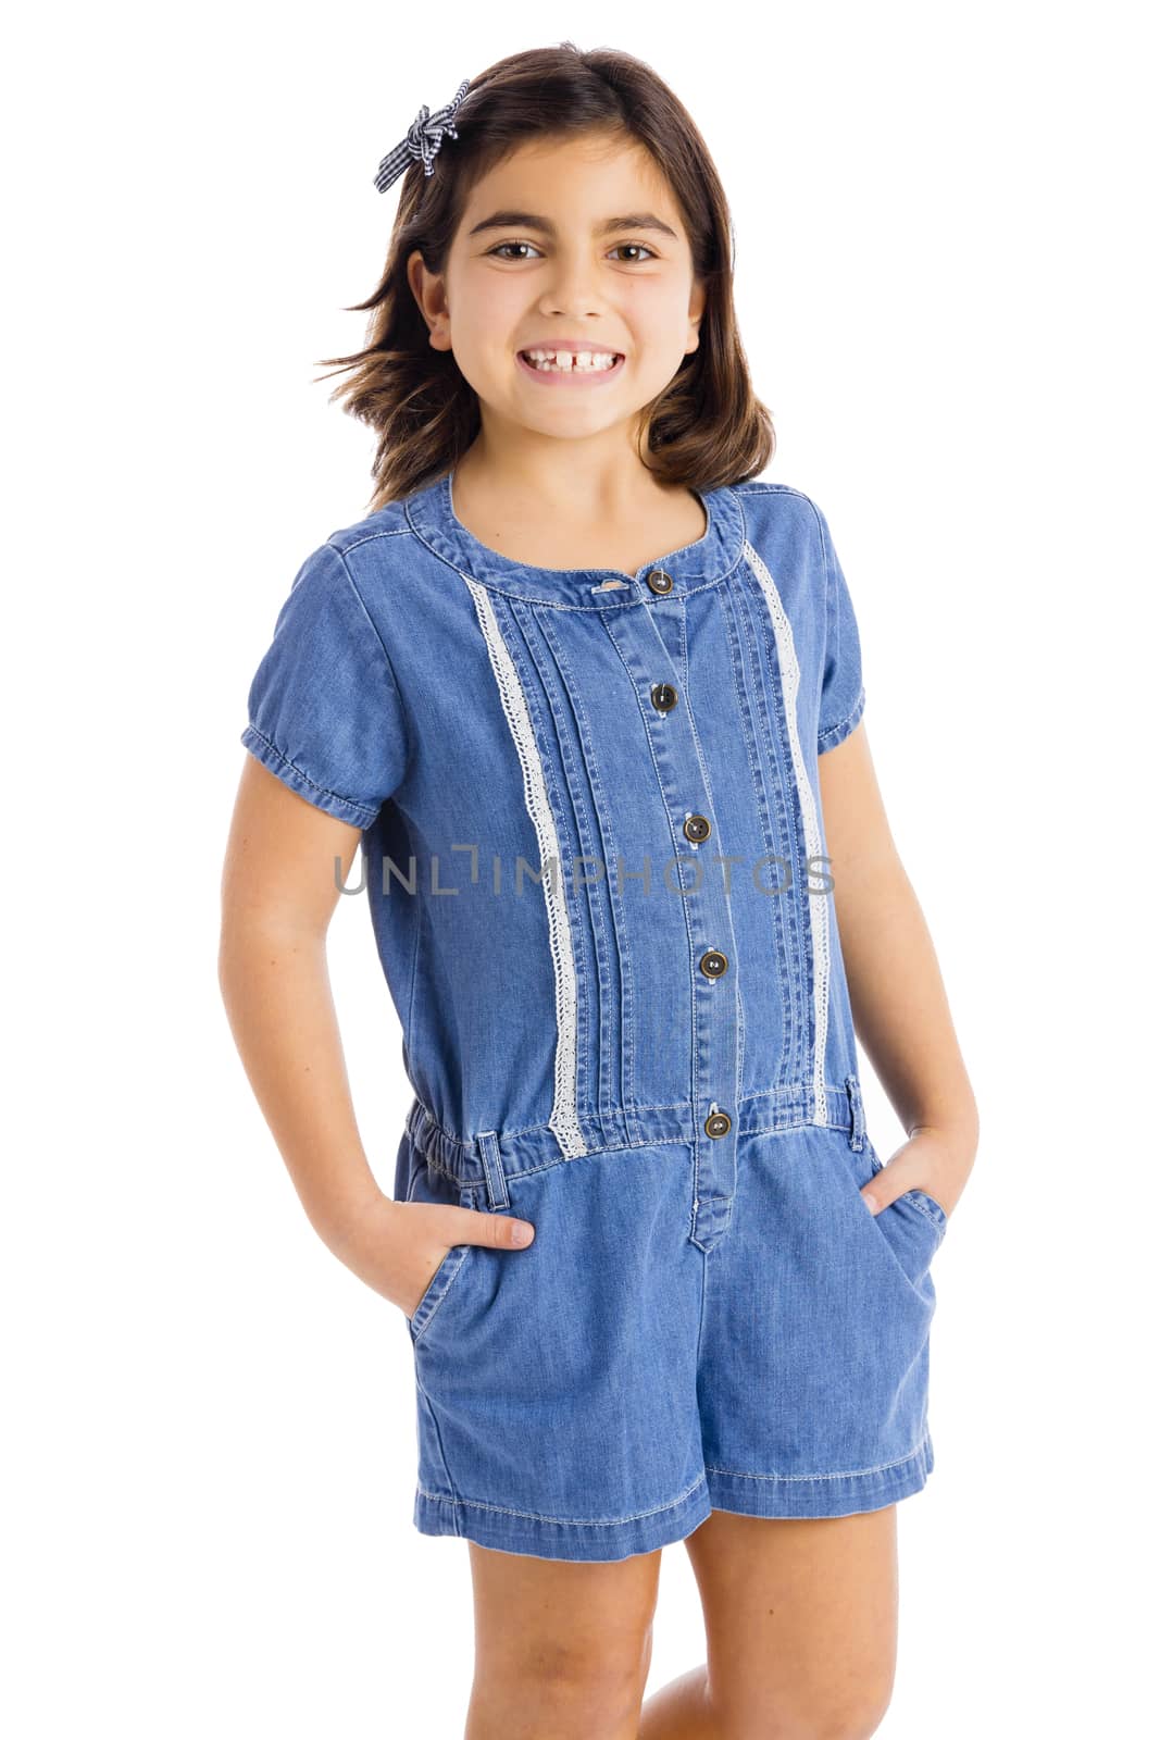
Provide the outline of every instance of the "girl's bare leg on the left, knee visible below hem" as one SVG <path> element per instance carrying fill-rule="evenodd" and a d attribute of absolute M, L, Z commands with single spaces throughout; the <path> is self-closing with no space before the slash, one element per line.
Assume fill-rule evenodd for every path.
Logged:
<path fill-rule="evenodd" d="M 468 1547 L 475 1681 L 464 1740 L 637 1740 L 661 1552 L 572 1564 Z"/>

